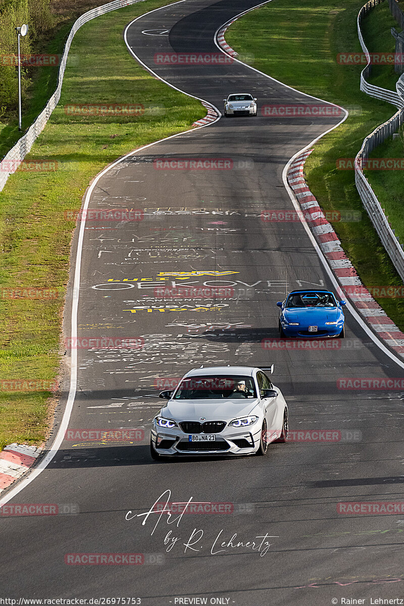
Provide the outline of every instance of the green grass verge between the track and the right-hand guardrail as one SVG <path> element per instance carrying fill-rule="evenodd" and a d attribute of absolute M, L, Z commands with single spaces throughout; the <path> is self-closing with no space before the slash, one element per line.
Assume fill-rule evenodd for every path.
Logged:
<path fill-rule="evenodd" d="M 323 210 L 362 213 L 360 221 L 332 223 L 363 284 L 398 286 L 402 281 L 363 209 L 354 171 L 337 170 L 336 164 L 339 158 L 354 158 L 363 139 L 395 113 L 392 105 L 360 92 L 363 66 L 337 62 L 338 53 L 362 50 L 356 27 L 362 5 L 363 0 L 274 0 L 231 25 L 226 40 L 260 71 L 302 92 L 354 107 L 339 128 L 315 145 L 305 163 L 306 180 Z M 371 12 L 363 27 L 375 18 Z M 377 301 L 404 330 L 403 299 Z"/>

